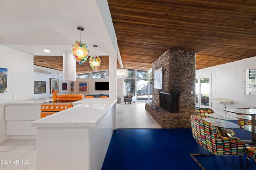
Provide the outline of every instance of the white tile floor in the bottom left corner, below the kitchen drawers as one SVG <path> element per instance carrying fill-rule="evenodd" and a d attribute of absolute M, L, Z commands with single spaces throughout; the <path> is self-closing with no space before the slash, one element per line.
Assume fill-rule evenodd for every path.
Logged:
<path fill-rule="evenodd" d="M 11 164 L 3 164 L 2 160 Z M 13 164 L 14 160 L 24 161 Z M 28 160 L 28 164 L 26 164 Z M 36 139 L 9 140 L 0 144 L 0 170 L 36 170 Z"/>

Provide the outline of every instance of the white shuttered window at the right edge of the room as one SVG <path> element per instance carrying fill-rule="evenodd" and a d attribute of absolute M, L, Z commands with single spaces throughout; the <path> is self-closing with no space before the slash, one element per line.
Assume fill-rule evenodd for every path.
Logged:
<path fill-rule="evenodd" d="M 256 68 L 246 69 L 245 74 L 246 96 L 256 95 Z"/>

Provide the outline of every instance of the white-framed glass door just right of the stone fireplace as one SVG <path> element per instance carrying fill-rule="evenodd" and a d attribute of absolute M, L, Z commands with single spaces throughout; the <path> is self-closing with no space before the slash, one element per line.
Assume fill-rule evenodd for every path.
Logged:
<path fill-rule="evenodd" d="M 211 76 L 199 76 L 196 78 L 196 107 L 210 107 L 211 99 Z"/>

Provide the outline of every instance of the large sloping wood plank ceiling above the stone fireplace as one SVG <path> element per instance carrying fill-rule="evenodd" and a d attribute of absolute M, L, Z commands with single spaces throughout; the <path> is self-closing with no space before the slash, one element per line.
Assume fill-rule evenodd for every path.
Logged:
<path fill-rule="evenodd" d="M 256 56 L 256 0 L 108 0 L 124 68 L 148 70 L 167 49 L 196 69 Z"/>

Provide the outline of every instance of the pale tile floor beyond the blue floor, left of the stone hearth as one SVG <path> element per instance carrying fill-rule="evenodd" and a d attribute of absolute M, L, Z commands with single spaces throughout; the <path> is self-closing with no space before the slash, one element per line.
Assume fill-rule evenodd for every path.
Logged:
<path fill-rule="evenodd" d="M 145 102 L 117 105 L 118 129 L 160 129 L 161 126 L 146 111 Z"/>

